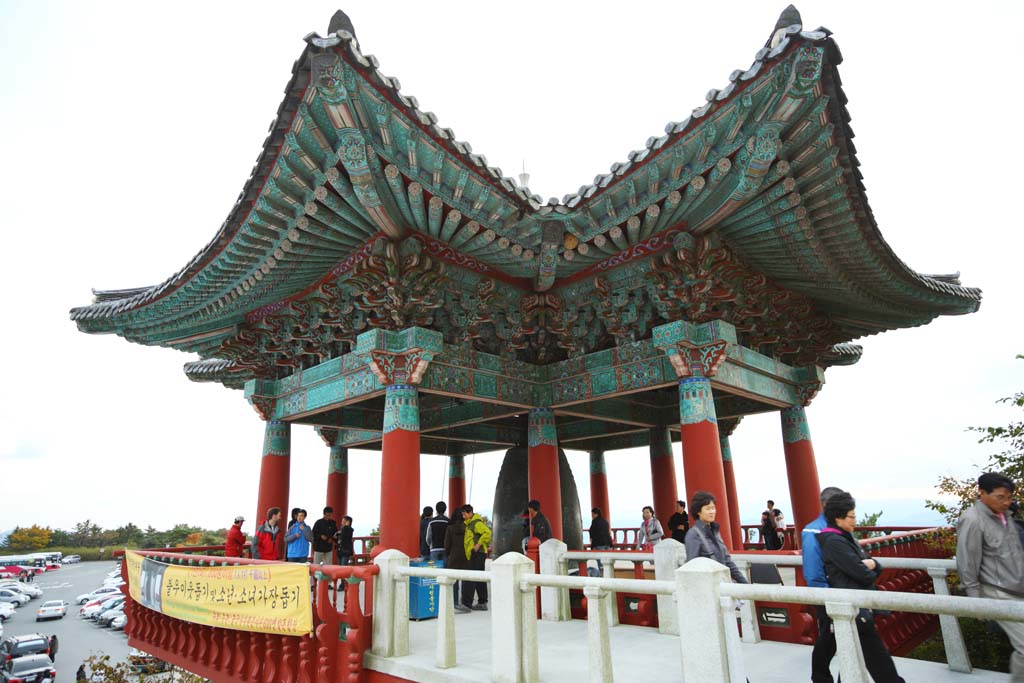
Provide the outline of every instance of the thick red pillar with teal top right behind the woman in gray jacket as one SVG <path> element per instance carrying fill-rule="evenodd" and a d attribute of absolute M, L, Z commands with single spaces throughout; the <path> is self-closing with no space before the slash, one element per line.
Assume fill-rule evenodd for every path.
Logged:
<path fill-rule="evenodd" d="M 686 498 L 693 500 L 693 494 L 698 490 L 707 490 L 715 497 L 718 509 L 716 521 L 721 527 L 722 540 L 728 548 L 735 548 L 725 468 L 722 466 L 722 445 L 718 438 L 718 418 L 711 380 L 707 377 L 679 380 L 679 423 Z M 692 510 L 691 514 L 696 514 L 696 510 Z"/>

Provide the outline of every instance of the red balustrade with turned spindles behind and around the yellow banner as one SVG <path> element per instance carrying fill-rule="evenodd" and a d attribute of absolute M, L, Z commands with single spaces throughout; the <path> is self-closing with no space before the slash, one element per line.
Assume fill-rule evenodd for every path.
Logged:
<path fill-rule="evenodd" d="M 139 552 L 162 562 L 194 566 L 267 563 L 166 549 Z M 203 626 L 143 607 L 128 593 L 127 565 L 122 563 L 125 633 L 132 647 L 214 681 L 360 683 L 366 679 L 362 653 L 370 648 L 373 581 L 378 571 L 374 564 L 310 566 L 315 581 L 310 605 L 313 632 L 299 637 Z"/>

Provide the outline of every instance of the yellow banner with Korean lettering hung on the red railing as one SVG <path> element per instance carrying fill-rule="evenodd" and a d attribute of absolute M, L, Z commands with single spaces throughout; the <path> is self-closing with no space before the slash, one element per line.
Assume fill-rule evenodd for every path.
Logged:
<path fill-rule="evenodd" d="M 128 592 L 144 607 L 205 626 L 301 636 L 312 631 L 305 564 L 198 567 L 125 552 Z"/>

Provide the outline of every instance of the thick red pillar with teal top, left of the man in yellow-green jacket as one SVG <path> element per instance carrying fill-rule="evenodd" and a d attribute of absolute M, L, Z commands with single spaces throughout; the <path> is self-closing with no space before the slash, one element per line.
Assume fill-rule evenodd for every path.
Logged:
<path fill-rule="evenodd" d="M 419 557 L 419 395 L 411 384 L 389 384 L 381 446 L 381 547 Z"/>

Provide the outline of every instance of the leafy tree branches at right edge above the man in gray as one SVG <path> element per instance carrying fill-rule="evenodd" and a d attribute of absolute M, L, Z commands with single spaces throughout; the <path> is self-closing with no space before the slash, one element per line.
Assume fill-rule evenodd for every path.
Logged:
<path fill-rule="evenodd" d="M 1017 358 L 1024 359 L 1024 355 L 1018 355 Z M 1024 391 L 1018 391 L 996 402 L 1024 409 Z M 1001 472 L 1013 479 L 1018 492 L 1024 490 L 1024 420 L 1011 421 L 1005 427 L 969 427 L 969 431 L 981 434 L 979 443 L 993 443 L 1002 447 L 989 456 L 987 463 L 976 469 L 979 472 Z M 955 523 L 961 512 L 978 499 L 977 476 L 941 476 L 936 488 L 941 494 L 951 496 L 952 502 L 927 501 L 925 507 L 941 514 L 950 524 Z"/>

